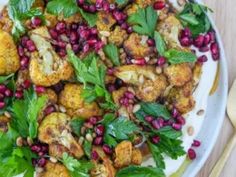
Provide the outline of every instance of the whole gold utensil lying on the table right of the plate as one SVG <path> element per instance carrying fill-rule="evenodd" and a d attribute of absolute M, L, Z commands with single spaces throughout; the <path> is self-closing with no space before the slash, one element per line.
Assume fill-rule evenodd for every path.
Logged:
<path fill-rule="evenodd" d="M 235 132 L 234 132 L 233 137 L 230 139 L 230 141 L 226 145 L 226 148 L 223 154 L 221 155 L 221 157 L 218 159 L 217 163 L 215 164 L 209 177 L 220 176 L 221 171 L 224 168 L 224 165 L 227 162 L 227 159 L 229 158 L 231 151 L 236 145 L 236 80 L 234 80 L 233 86 L 229 92 L 228 103 L 227 103 L 227 113 L 235 129 Z"/>

